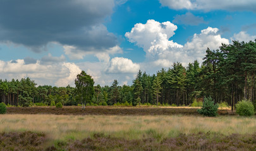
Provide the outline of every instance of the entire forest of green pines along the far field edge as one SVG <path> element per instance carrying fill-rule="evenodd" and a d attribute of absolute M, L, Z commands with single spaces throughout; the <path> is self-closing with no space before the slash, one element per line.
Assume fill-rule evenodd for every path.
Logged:
<path fill-rule="evenodd" d="M 217 50 L 207 48 L 202 64 L 197 60 L 184 67 L 175 62 L 169 69 L 156 74 L 138 72 L 131 86 L 94 86 L 94 80 L 84 71 L 75 80 L 76 87 L 37 86 L 27 79 L 0 79 L 0 102 L 10 106 L 51 105 L 61 102 L 73 105 L 141 105 L 174 104 L 188 106 L 204 96 L 211 96 L 215 103 L 230 106 L 241 99 L 256 104 L 256 40 L 233 41 Z"/>

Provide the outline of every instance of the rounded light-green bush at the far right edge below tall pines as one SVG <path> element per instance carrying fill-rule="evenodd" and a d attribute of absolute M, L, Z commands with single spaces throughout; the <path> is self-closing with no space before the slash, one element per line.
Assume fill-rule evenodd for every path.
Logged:
<path fill-rule="evenodd" d="M 236 104 L 236 113 L 241 116 L 252 116 L 254 114 L 252 102 L 247 100 L 239 101 Z"/>

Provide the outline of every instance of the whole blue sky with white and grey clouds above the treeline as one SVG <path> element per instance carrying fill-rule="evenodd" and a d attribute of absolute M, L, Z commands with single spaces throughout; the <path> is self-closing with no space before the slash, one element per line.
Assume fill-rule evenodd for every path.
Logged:
<path fill-rule="evenodd" d="M 138 70 L 202 63 L 207 47 L 256 38 L 255 0 L 0 0 L 0 79 L 131 85 Z"/>

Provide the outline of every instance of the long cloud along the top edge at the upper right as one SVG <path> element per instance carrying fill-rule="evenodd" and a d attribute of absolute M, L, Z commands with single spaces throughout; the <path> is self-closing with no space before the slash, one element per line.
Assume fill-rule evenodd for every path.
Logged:
<path fill-rule="evenodd" d="M 171 9 L 199 9 L 210 11 L 214 9 L 228 11 L 253 11 L 256 12 L 256 1 L 254 0 L 159 0 L 162 6 L 168 6 Z"/>

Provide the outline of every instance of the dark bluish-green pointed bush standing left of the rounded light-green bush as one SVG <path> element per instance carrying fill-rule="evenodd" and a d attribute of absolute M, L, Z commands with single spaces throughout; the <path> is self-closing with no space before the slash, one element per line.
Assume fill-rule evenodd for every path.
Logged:
<path fill-rule="evenodd" d="M 202 108 L 197 109 L 197 112 L 200 115 L 204 116 L 217 116 L 218 111 L 218 104 L 214 104 L 214 101 L 212 101 L 212 98 L 204 98 L 204 104 Z"/>

